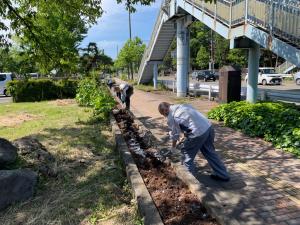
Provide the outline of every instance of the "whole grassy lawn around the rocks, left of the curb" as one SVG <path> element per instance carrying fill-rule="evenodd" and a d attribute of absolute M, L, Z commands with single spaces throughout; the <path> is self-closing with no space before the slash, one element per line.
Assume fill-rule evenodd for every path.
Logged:
<path fill-rule="evenodd" d="M 0 137 L 38 139 L 57 161 L 35 196 L 0 212 L 0 224 L 141 224 L 109 124 L 73 100 L 0 105 Z M 18 165 L 26 166 L 19 159 Z"/>

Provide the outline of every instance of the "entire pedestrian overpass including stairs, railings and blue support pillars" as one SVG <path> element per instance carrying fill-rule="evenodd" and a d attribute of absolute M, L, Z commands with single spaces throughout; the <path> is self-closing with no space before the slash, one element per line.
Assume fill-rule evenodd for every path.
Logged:
<path fill-rule="evenodd" d="M 255 102 L 260 48 L 300 67 L 299 0 L 163 0 L 142 58 L 139 83 L 153 79 L 158 64 L 177 38 L 177 96 L 186 96 L 189 68 L 189 25 L 199 20 L 230 40 L 231 48 L 249 49 L 247 100 Z"/>

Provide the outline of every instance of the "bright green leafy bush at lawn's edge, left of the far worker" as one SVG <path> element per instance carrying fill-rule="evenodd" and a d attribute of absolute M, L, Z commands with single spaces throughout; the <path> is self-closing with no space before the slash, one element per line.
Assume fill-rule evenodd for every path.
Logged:
<path fill-rule="evenodd" d="M 108 118 L 116 105 L 107 86 L 89 78 L 80 81 L 76 100 L 80 106 L 92 107 L 94 115 L 99 119 Z"/>

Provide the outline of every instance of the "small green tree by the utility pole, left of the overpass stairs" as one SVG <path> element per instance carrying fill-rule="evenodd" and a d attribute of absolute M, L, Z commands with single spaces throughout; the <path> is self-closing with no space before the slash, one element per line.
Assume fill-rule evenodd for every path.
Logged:
<path fill-rule="evenodd" d="M 124 47 L 121 49 L 118 58 L 115 61 L 115 67 L 128 70 L 128 79 L 133 80 L 133 71 L 130 70 L 130 65 L 133 65 L 134 69 L 137 70 L 140 64 L 146 45 L 138 37 L 133 40 L 128 40 Z"/>

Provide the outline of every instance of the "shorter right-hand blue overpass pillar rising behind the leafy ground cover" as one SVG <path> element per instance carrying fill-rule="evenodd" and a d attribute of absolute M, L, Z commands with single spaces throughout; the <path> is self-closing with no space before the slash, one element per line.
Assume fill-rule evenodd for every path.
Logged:
<path fill-rule="evenodd" d="M 257 81 L 259 70 L 260 46 L 253 42 L 249 48 L 248 57 L 248 83 L 247 83 L 247 102 L 255 103 L 257 100 Z"/>

